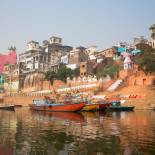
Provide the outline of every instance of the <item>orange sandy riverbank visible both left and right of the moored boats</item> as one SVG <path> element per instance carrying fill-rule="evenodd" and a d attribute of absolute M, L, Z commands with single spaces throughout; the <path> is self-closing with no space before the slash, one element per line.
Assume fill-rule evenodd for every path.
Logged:
<path fill-rule="evenodd" d="M 140 98 L 127 98 L 125 104 L 135 106 L 135 109 L 152 109 L 155 107 L 155 87 L 125 86 L 113 92 L 103 91 L 98 94 L 105 95 L 106 97 L 118 95 L 137 95 L 140 96 Z M 34 99 L 43 99 L 44 96 L 45 95 L 40 94 L 4 96 L 3 103 L 28 106 Z M 51 97 L 51 94 L 47 94 L 46 96 Z"/>

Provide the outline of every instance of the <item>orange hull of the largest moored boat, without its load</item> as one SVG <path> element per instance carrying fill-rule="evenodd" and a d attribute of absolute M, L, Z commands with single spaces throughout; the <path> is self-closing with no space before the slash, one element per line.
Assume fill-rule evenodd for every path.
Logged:
<path fill-rule="evenodd" d="M 75 112 L 84 107 L 84 103 L 77 104 L 57 104 L 57 105 L 35 105 L 30 104 L 30 109 L 38 111 L 62 111 L 62 112 Z"/>

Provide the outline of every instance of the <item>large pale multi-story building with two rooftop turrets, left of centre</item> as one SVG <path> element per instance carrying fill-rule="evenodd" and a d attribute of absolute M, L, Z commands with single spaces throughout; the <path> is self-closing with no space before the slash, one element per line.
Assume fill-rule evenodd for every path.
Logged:
<path fill-rule="evenodd" d="M 27 43 L 27 49 L 19 55 L 20 88 L 24 91 L 41 90 L 40 82 L 48 70 L 57 71 L 61 58 L 72 50 L 70 46 L 62 45 L 62 39 L 51 37 L 44 40 L 40 46 L 36 41 Z"/>

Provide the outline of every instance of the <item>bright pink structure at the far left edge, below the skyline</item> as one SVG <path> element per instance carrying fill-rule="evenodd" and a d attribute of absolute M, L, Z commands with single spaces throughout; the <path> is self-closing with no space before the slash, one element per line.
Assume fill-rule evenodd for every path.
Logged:
<path fill-rule="evenodd" d="M 16 64 L 17 54 L 16 51 L 10 51 L 8 54 L 0 54 L 0 73 L 3 72 L 3 68 L 6 64 Z"/>

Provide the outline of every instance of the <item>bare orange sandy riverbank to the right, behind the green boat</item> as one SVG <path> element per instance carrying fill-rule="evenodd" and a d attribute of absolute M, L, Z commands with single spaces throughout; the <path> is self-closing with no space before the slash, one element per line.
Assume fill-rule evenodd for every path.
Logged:
<path fill-rule="evenodd" d="M 135 109 L 152 109 L 155 107 L 154 86 L 126 86 L 113 92 L 101 92 L 105 96 L 133 95 L 135 98 L 127 98 L 126 105 L 135 106 Z"/>

